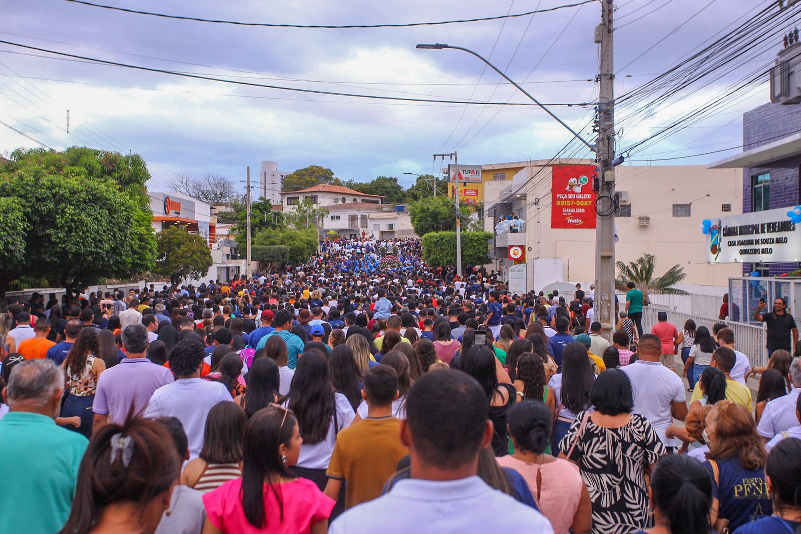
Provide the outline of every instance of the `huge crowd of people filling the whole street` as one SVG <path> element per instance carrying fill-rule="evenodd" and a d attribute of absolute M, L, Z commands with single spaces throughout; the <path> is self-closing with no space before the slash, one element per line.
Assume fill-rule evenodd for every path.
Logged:
<path fill-rule="evenodd" d="M 593 301 L 368 238 L 231 281 L 10 299 L 0 532 L 801 528 L 786 306 L 758 310 L 752 367 L 724 323 L 646 333 L 633 283 L 611 340 Z"/>

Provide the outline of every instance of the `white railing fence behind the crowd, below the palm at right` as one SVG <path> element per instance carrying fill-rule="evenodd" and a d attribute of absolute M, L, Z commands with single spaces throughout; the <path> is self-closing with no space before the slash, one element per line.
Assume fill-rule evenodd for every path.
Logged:
<path fill-rule="evenodd" d="M 706 326 L 710 333 L 715 323 L 722 322 L 734 331 L 735 348 L 748 357 L 752 367 L 767 365 L 767 349 L 765 348 L 767 331 L 762 323 L 752 325 L 746 322 L 720 321 L 718 318 L 698 314 L 686 314 L 666 306 L 663 307 L 652 304 L 642 309 L 642 330 L 644 332 L 650 332 L 651 326 L 654 326 L 658 322 L 657 314 L 660 311 L 667 313 L 667 321 L 672 322 L 679 332 L 682 331 L 682 327 L 687 319 L 692 319 L 696 327 Z"/>

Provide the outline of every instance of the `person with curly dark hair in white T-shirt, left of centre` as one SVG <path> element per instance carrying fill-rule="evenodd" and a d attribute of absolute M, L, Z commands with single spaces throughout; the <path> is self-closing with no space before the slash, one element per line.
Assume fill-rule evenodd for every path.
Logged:
<path fill-rule="evenodd" d="M 189 439 L 190 459 L 196 458 L 203 447 L 211 407 L 233 400 L 222 383 L 200 378 L 203 355 L 203 343 L 195 339 L 183 339 L 175 345 L 170 353 L 170 368 L 178 380 L 155 390 L 145 410 L 145 417 L 151 419 L 177 417 L 181 421 Z"/>

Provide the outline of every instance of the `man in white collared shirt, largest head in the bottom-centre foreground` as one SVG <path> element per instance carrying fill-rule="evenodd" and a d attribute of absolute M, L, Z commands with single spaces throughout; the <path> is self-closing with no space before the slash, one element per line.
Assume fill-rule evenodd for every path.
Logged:
<path fill-rule="evenodd" d="M 412 456 L 410 478 L 344 512 L 329 534 L 407 534 L 421 528 L 442 534 L 553 534 L 540 512 L 476 475 L 478 451 L 493 439 L 482 391 L 464 373 L 441 371 L 420 378 L 406 400 L 408 419 L 400 422 L 400 441 Z"/>

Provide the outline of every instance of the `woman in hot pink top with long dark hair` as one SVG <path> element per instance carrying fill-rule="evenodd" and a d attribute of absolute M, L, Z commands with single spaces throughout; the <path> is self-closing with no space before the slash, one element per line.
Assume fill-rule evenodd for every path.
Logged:
<path fill-rule="evenodd" d="M 272 404 L 248 419 L 242 478 L 203 496 L 203 534 L 324 534 L 336 503 L 315 483 L 289 471 L 298 461 L 300 443 L 291 410 Z"/>

